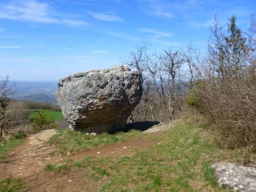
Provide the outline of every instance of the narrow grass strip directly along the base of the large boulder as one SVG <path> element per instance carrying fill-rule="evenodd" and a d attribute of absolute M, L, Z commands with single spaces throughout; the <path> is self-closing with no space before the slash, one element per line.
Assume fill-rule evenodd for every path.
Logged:
<path fill-rule="evenodd" d="M 118 141 L 125 141 L 127 138 L 140 134 L 140 131 L 129 131 L 127 133 L 118 132 L 115 134 L 103 133 L 98 136 L 86 135 L 78 131 L 59 131 L 54 135 L 48 143 L 50 145 L 59 146 L 61 154 L 67 152 L 76 153 L 80 149 L 87 149 L 98 145 L 108 145 L 110 143 L 117 143 Z"/>

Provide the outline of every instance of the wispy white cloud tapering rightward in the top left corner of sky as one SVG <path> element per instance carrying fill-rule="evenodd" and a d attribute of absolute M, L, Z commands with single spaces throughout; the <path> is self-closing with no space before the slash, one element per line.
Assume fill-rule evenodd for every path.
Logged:
<path fill-rule="evenodd" d="M 84 25 L 80 20 L 59 19 L 52 15 L 47 3 L 35 0 L 15 1 L 0 8 L 0 19 L 22 20 L 38 23 L 59 23 L 72 26 Z"/>

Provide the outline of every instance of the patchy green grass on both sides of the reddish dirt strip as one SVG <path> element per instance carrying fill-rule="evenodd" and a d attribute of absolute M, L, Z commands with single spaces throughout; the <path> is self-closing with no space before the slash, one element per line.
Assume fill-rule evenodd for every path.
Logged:
<path fill-rule="evenodd" d="M 79 132 L 60 132 L 50 143 L 64 145 L 66 151 L 79 150 L 139 134 L 145 139 L 157 138 L 158 145 L 135 151 L 130 156 L 88 156 L 82 161 L 69 162 L 67 172 L 76 171 L 86 182 L 101 183 L 97 191 L 225 191 L 218 187 L 210 165 L 241 156 L 239 151 L 220 148 L 200 124 L 179 122 L 170 130 L 154 135 L 131 131 L 93 137 Z M 63 169 L 48 166 L 50 171 Z"/>

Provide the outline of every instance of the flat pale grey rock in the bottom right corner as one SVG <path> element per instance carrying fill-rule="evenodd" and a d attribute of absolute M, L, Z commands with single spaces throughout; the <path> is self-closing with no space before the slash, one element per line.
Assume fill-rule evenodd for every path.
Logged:
<path fill-rule="evenodd" d="M 233 163 L 215 164 L 212 168 L 220 186 L 231 187 L 234 191 L 256 191 L 256 168 Z"/>

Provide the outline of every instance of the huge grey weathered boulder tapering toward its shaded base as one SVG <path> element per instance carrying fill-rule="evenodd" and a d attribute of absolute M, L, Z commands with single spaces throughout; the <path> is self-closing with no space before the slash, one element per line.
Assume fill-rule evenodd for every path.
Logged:
<path fill-rule="evenodd" d="M 142 97 L 141 74 L 127 66 L 76 73 L 59 81 L 57 100 L 72 130 L 114 132 Z"/>

